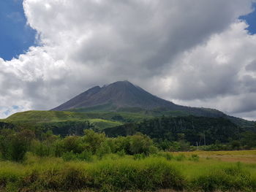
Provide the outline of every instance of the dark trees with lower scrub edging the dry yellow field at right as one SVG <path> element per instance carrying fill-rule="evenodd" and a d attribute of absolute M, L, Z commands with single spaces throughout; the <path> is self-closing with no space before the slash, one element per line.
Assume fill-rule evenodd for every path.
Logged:
<path fill-rule="evenodd" d="M 226 118 L 162 116 L 140 123 L 126 123 L 104 131 L 109 137 L 140 132 L 154 139 L 162 150 L 189 150 L 190 145 L 206 150 L 256 147 L 256 126 L 254 129 L 246 130 Z"/>

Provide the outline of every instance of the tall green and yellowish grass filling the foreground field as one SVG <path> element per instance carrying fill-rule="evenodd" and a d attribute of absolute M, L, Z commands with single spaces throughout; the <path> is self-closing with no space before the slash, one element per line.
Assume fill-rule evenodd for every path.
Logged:
<path fill-rule="evenodd" d="M 1 191 L 256 191 L 256 164 L 195 154 L 109 154 L 90 162 L 39 158 L 0 162 Z"/>

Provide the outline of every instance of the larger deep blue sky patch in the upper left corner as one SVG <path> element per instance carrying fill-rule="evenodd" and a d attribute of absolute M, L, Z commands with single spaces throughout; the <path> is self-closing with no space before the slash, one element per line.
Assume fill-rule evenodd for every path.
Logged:
<path fill-rule="evenodd" d="M 26 25 L 23 0 L 0 1 L 0 57 L 17 58 L 35 45 L 36 31 Z"/>

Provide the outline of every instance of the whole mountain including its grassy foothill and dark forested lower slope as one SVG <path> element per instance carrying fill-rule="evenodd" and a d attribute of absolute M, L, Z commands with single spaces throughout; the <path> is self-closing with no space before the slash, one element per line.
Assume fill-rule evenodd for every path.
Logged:
<path fill-rule="evenodd" d="M 252 121 L 231 117 L 218 110 L 177 105 L 128 81 L 90 88 L 50 111 L 18 112 L 0 120 L 0 129 L 20 125 L 51 130 L 61 136 L 83 134 L 84 128 L 104 130 L 110 136 L 130 134 L 135 128 L 133 131 L 152 138 L 171 136 L 172 128 L 190 131 L 187 137 L 191 136 L 191 131 L 195 132 L 194 136 L 197 131 L 223 129 L 225 132 L 227 128 L 230 134 L 234 133 L 231 129 L 237 128 L 256 131 Z M 218 135 L 227 136 L 222 131 Z"/>

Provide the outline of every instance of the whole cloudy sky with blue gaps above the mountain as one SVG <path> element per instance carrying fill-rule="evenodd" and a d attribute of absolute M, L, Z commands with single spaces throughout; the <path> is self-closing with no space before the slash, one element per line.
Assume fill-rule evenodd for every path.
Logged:
<path fill-rule="evenodd" d="M 3 0 L 0 118 L 129 80 L 256 120 L 254 0 Z"/>

